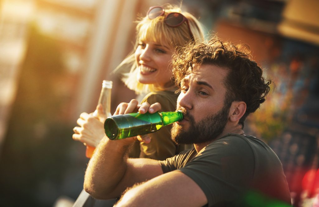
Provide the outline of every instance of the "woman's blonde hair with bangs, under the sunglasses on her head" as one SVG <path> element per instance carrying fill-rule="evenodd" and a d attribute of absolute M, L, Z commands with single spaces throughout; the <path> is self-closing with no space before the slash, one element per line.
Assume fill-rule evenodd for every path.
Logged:
<path fill-rule="evenodd" d="M 135 93 L 148 93 L 150 91 L 165 90 L 166 88 L 158 88 L 154 84 L 142 84 L 137 80 L 137 63 L 135 61 L 135 50 L 137 49 L 140 40 L 148 40 L 157 42 L 161 45 L 170 45 L 172 48 L 176 46 L 187 45 L 191 40 L 191 33 L 193 34 L 194 41 L 196 43 L 204 41 L 204 32 L 199 21 L 190 13 L 182 12 L 181 8 L 174 6 L 172 4 L 165 4 L 164 6 L 165 14 L 154 19 L 149 19 L 146 17 L 140 17 L 136 21 L 136 42 L 134 50 L 127 56 L 122 63 L 115 69 L 119 69 L 122 66 L 131 65 L 131 70 L 128 73 L 123 73 L 122 81 L 125 85 L 134 90 Z M 183 14 L 189 21 L 189 31 L 187 22 L 177 27 L 170 27 L 164 22 L 164 18 L 167 13 L 178 12 Z"/>

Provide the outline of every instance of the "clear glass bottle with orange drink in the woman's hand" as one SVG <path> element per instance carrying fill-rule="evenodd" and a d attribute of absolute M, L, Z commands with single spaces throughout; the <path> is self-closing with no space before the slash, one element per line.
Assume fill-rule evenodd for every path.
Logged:
<path fill-rule="evenodd" d="M 111 90 L 113 82 L 110 80 L 103 80 L 102 90 L 100 93 L 100 98 L 98 104 L 102 104 L 103 110 L 106 114 L 106 117 L 111 116 Z M 93 112 L 94 116 L 97 116 L 97 110 Z M 95 147 L 86 145 L 85 156 L 91 158 L 93 155 Z"/>

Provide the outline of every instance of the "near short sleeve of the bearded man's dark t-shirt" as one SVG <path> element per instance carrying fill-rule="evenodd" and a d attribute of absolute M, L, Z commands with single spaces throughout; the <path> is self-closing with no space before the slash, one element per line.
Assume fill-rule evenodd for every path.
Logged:
<path fill-rule="evenodd" d="M 254 172 L 249 145 L 239 137 L 214 141 L 178 169 L 204 191 L 208 206 L 232 202 L 248 186 Z"/>

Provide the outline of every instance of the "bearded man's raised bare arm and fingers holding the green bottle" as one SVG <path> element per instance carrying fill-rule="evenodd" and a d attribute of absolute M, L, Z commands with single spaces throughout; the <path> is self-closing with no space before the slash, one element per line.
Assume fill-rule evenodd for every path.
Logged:
<path fill-rule="evenodd" d="M 137 100 L 129 104 L 121 103 L 115 114 L 128 114 L 138 111 L 142 114 L 160 109 L 160 105 L 143 103 Z M 141 137 L 138 138 L 140 141 Z M 121 193 L 135 183 L 144 182 L 163 174 L 160 164 L 152 159 L 128 159 L 127 152 L 134 138 L 110 140 L 105 136 L 91 158 L 84 178 L 84 189 L 93 197 L 108 199 L 119 197 Z"/>

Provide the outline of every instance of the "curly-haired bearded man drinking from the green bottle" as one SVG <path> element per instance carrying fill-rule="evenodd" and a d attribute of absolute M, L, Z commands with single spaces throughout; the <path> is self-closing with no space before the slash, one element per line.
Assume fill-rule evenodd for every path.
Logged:
<path fill-rule="evenodd" d="M 100 199 L 122 194 L 116 206 L 290 205 L 278 157 L 243 131 L 246 117 L 270 90 L 262 69 L 241 48 L 218 39 L 184 48 L 173 68 L 181 89 L 177 110 L 184 119 L 174 123 L 172 139 L 193 143 L 194 149 L 165 161 L 128 159 L 136 138 L 105 137 L 88 164 L 85 190 Z M 115 114 L 159 109 L 158 103 L 132 100 L 120 104 Z"/>

